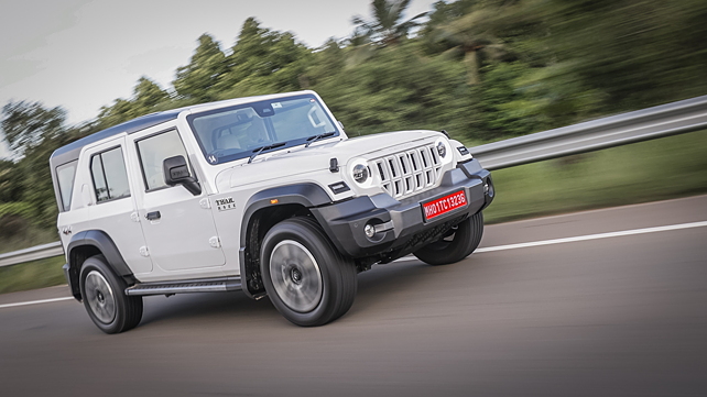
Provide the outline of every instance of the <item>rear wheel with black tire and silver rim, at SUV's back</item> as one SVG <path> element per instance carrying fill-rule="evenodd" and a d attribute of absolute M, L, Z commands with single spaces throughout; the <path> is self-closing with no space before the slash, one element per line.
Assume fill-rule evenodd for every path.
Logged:
<path fill-rule="evenodd" d="M 101 331 L 128 331 L 142 319 L 142 297 L 126 295 L 128 285 L 116 276 L 104 255 L 91 256 L 84 262 L 79 285 L 84 307 Z"/>

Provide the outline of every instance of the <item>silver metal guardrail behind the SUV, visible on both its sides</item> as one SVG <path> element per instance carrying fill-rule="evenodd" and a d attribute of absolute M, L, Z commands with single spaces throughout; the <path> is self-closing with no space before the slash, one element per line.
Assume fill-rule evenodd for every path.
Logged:
<path fill-rule="evenodd" d="M 487 169 L 707 129 L 707 96 L 469 148 Z M 0 267 L 64 254 L 59 242 L 0 254 Z"/>

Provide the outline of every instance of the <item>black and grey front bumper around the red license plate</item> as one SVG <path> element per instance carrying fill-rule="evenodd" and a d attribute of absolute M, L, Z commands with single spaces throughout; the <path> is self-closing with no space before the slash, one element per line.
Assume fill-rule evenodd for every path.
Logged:
<path fill-rule="evenodd" d="M 467 197 L 464 207 L 425 220 L 423 202 L 463 189 Z M 438 187 L 401 201 L 380 194 L 311 210 L 341 253 L 389 262 L 438 240 L 455 224 L 488 207 L 493 196 L 490 173 L 471 159 L 445 173 Z M 376 228 L 372 238 L 365 233 L 367 224 Z"/>

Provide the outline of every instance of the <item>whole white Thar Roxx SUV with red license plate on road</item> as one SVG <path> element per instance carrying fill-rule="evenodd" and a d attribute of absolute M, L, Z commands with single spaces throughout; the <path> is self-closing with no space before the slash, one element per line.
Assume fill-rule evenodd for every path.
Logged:
<path fill-rule="evenodd" d="M 153 113 L 50 159 L 72 294 L 107 333 L 142 296 L 243 290 L 298 326 L 351 307 L 357 273 L 469 255 L 489 172 L 444 132 L 349 139 L 313 91 Z"/>

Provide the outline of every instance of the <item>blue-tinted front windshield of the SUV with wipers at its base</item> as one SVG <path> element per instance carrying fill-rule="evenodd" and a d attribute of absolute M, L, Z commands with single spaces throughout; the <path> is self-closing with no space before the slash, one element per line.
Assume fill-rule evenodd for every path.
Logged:
<path fill-rule="evenodd" d="M 317 135 L 339 134 L 312 95 L 239 104 L 187 117 L 210 164 L 253 153 L 306 144 Z M 274 145 L 278 144 L 278 145 Z"/>

